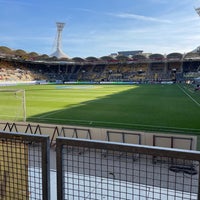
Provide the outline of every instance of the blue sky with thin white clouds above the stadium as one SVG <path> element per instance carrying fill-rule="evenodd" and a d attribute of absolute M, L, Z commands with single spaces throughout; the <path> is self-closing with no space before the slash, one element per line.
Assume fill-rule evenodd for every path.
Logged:
<path fill-rule="evenodd" d="M 62 49 L 72 58 L 186 53 L 200 45 L 195 7 L 200 0 L 0 0 L 0 46 L 49 55 L 64 22 Z"/>

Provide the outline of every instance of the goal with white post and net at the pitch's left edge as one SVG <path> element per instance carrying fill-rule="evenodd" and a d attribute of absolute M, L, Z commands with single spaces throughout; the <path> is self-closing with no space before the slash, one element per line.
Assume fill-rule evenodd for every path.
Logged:
<path fill-rule="evenodd" d="M 0 119 L 26 121 L 25 90 L 0 90 Z"/>

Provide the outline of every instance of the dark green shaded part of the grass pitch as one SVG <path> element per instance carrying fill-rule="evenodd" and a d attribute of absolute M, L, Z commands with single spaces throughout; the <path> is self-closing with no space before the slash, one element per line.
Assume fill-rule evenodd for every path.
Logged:
<path fill-rule="evenodd" d="M 199 109 L 186 98 L 175 85 L 140 85 L 61 110 L 40 113 L 28 117 L 27 121 L 200 134 Z"/>

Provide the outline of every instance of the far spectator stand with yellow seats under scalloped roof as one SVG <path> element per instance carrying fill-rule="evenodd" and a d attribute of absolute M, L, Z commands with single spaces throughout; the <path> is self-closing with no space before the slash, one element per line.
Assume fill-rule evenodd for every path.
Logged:
<path fill-rule="evenodd" d="M 30 56 L 29 56 L 30 57 Z M 118 55 L 115 58 L 75 57 L 58 60 L 47 55 L 24 59 L 1 54 L 0 81 L 47 82 L 167 82 L 186 81 L 200 76 L 198 53 Z"/>

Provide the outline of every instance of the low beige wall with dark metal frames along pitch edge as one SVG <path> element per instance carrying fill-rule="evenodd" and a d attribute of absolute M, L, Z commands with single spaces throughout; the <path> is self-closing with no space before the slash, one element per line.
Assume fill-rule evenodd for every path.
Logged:
<path fill-rule="evenodd" d="M 197 135 L 164 134 L 128 130 L 103 129 L 51 124 L 0 122 L 0 131 L 18 132 L 33 135 L 49 135 L 50 146 L 54 147 L 58 136 L 103 140 L 111 142 L 143 144 L 169 148 L 194 150 L 197 146 Z"/>

